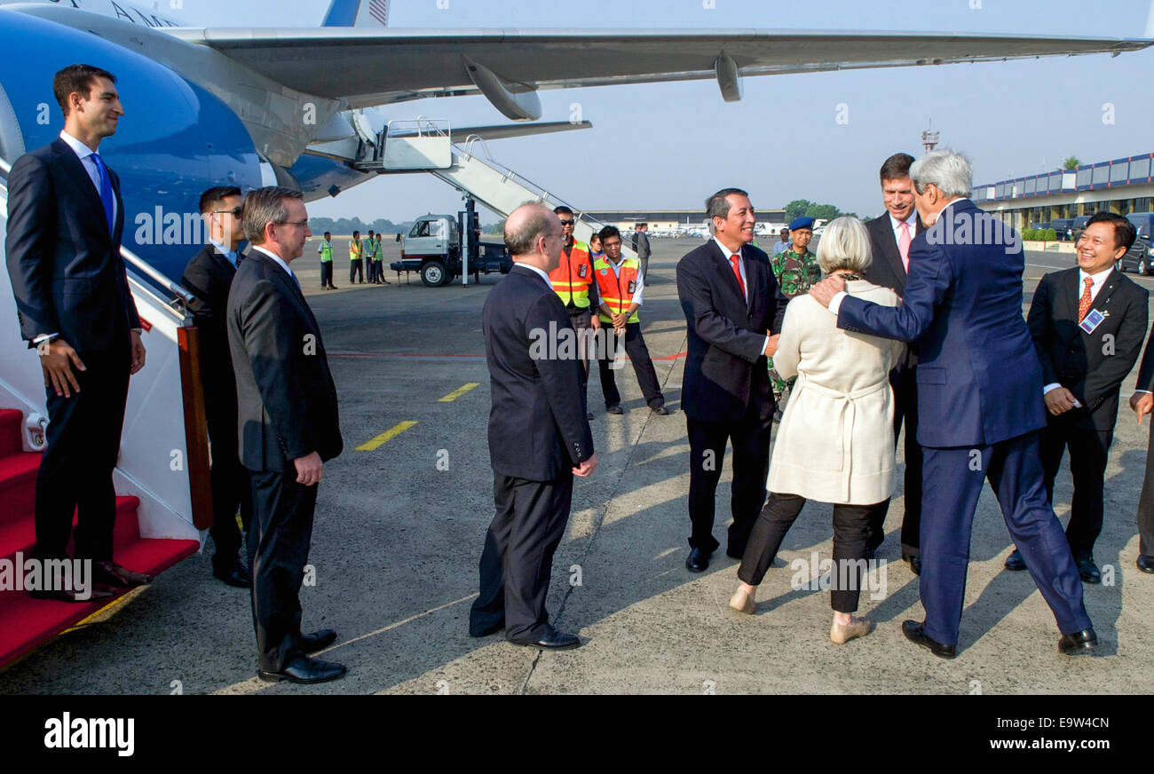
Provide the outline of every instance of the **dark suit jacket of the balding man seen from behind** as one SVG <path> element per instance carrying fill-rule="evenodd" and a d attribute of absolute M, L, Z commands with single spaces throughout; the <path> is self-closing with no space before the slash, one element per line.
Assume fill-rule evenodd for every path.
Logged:
<path fill-rule="evenodd" d="M 592 457 L 580 361 L 560 356 L 557 346 L 565 329 L 574 333 L 572 323 L 553 287 L 532 269 L 514 265 L 485 300 L 481 328 L 493 394 L 493 471 L 553 481 Z"/>

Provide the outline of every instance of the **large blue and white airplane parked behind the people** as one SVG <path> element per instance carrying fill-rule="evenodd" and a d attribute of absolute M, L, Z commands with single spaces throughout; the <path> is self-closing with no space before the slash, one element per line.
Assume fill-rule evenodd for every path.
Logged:
<path fill-rule="evenodd" d="M 407 103 L 482 95 L 511 123 L 496 138 L 585 129 L 535 122 L 538 91 L 717 81 L 869 67 L 1139 51 L 1149 39 L 773 30 L 425 30 L 388 28 L 388 2 L 332 0 L 315 29 L 194 27 L 182 0 L 0 0 L 0 158 L 51 142 L 63 118 L 52 74 L 93 63 L 120 78 L 127 120 L 102 144 L 121 179 L 126 247 L 170 277 L 190 255 L 182 225 L 213 185 L 282 183 L 306 201 L 387 172 L 362 163 Z M 1154 16 L 1147 38 L 1154 36 Z M 157 217 L 159 216 L 159 218 Z M 186 217 L 189 216 L 189 217 Z M 167 220 L 165 220 L 167 219 Z M 160 220 L 160 223 L 157 223 Z M 134 227 L 136 226 L 136 227 Z"/>

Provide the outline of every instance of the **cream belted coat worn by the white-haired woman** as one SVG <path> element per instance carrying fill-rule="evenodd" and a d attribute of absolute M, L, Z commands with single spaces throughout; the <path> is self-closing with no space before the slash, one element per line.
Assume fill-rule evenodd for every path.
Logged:
<path fill-rule="evenodd" d="M 864 280 L 846 283 L 863 301 L 893 307 L 897 294 Z M 838 329 L 810 295 L 786 307 L 773 366 L 797 375 L 778 426 L 766 488 L 823 503 L 868 505 L 893 494 L 893 393 L 890 368 L 900 341 Z"/>

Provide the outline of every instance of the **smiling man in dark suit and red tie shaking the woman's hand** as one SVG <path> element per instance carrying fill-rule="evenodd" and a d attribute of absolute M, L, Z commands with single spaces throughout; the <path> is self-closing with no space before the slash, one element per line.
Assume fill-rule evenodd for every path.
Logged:
<path fill-rule="evenodd" d="M 677 296 L 689 348 L 681 405 L 689 433 L 689 557 L 702 572 L 720 547 L 714 493 L 725 446 L 733 444 L 733 496 L 726 554 L 740 559 L 765 503 L 773 389 L 765 362 L 777 351 L 787 299 L 765 253 L 752 245 L 749 195 L 724 188 L 705 202 L 714 238 L 677 262 Z M 771 336 L 772 332 L 772 336 Z"/>

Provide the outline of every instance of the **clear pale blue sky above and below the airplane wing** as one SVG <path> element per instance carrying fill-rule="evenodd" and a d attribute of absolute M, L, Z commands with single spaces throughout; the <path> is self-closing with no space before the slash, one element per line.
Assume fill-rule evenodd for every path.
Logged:
<path fill-rule="evenodd" d="M 367 1 L 367 0 L 366 0 Z M 164 5 L 164 3 L 162 3 Z M 320 25 L 328 0 L 183 0 L 207 27 Z M 827 29 L 1020 32 L 1140 38 L 1149 0 L 391 0 L 395 28 Z M 447 6 L 447 7 L 441 7 Z M 489 151 L 585 210 L 694 209 L 724 186 L 755 206 L 794 198 L 859 215 L 882 211 L 877 168 L 897 151 L 921 155 L 930 121 L 942 145 L 974 161 L 975 182 L 1154 151 L 1154 51 L 1020 62 L 745 77 L 740 103 L 713 81 L 540 92 L 542 121 L 579 103 L 593 128 L 490 141 Z M 838 123 L 838 105 L 848 122 Z M 1114 105 L 1114 123 L 1103 105 Z M 454 125 L 503 123 L 482 97 L 390 108 Z M 314 202 L 312 215 L 406 220 L 460 209 L 457 191 L 426 175 L 390 175 Z M 482 217 L 487 221 L 492 218 Z"/>

